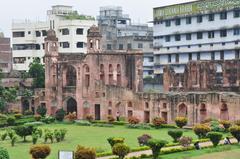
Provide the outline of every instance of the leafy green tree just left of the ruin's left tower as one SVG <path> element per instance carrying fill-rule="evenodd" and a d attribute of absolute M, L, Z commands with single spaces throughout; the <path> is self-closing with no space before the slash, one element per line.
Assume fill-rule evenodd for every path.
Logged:
<path fill-rule="evenodd" d="M 40 63 L 40 59 L 36 58 L 29 66 L 29 76 L 33 78 L 33 88 L 45 87 L 45 69 Z"/>

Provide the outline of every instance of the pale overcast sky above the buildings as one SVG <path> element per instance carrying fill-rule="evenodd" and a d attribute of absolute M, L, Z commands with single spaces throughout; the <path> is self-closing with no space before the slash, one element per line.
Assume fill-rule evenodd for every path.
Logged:
<path fill-rule="evenodd" d="M 79 13 L 97 16 L 100 6 L 122 6 L 133 22 L 146 23 L 153 18 L 153 8 L 191 0 L 1 0 L 0 31 L 11 36 L 13 19 L 46 20 L 52 5 L 71 5 Z"/>

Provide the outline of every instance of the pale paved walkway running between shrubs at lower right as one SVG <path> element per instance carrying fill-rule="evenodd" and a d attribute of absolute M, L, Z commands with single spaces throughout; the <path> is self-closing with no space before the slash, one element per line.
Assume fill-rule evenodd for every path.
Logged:
<path fill-rule="evenodd" d="M 236 139 L 231 139 L 231 142 L 232 143 L 236 143 L 237 140 Z M 220 142 L 221 144 L 224 143 L 224 140 L 222 140 Z M 202 142 L 200 143 L 200 146 L 201 147 L 207 147 L 207 146 L 210 146 L 212 145 L 212 142 Z M 172 148 L 179 148 L 179 147 L 182 147 L 182 146 L 172 146 L 172 147 L 165 147 L 165 148 L 162 148 L 162 150 L 168 150 L 168 149 L 172 149 Z M 132 153 L 129 153 L 127 155 L 127 157 L 140 157 L 141 155 L 151 155 L 152 154 L 152 151 L 151 150 L 145 150 L 145 151 L 138 151 L 138 152 L 132 152 Z M 111 159 L 111 158 L 114 158 L 116 156 L 105 156 L 105 157 L 99 157 L 97 159 Z"/>

